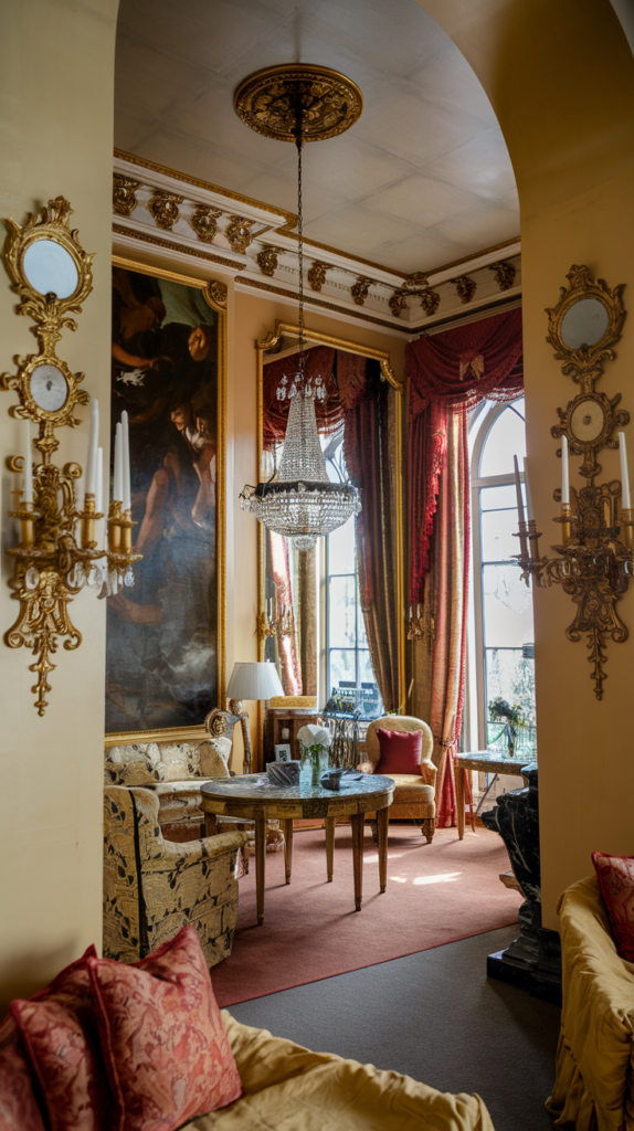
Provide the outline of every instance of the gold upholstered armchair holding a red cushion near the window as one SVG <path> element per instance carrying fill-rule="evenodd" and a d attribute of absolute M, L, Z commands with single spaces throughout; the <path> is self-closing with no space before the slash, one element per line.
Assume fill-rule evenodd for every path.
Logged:
<path fill-rule="evenodd" d="M 414 820 L 420 826 L 423 836 L 427 844 L 432 844 L 436 827 L 436 802 L 435 780 L 436 767 L 432 761 L 432 750 L 434 749 L 434 737 L 431 728 L 420 718 L 412 718 L 409 715 L 390 715 L 387 718 L 377 718 L 370 724 L 365 736 L 365 749 L 367 762 L 359 766 L 366 772 L 374 772 L 381 749 L 379 745 L 377 731 L 401 731 L 411 733 L 423 732 L 423 744 L 420 748 L 420 775 L 414 774 L 387 774 L 396 783 L 394 800 L 388 809 L 388 815 L 392 819 Z M 367 765 L 372 766 L 368 771 Z"/>

